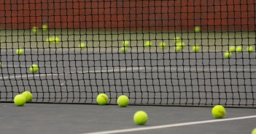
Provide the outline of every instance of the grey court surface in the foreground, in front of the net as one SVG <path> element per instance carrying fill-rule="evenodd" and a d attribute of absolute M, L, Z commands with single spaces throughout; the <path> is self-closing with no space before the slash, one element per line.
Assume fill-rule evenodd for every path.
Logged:
<path fill-rule="evenodd" d="M 134 112 L 149 115 L 146 125 L 133 123 Z M 255 115 L 255 109 L 226 109 L 225 119 Z M 251 133 L 255 117 L 244 120 L 202 123 L 148 130 L 158 125 L 213 121 L 210 107 L 128 106 L 77 104 L 26 104 L 23 107 L 1 104 L 2 133 L 95 133 L 108 130 L 146 128 L 126 133 Z M 219 121 L 219 120 L 217 120 Z"/>

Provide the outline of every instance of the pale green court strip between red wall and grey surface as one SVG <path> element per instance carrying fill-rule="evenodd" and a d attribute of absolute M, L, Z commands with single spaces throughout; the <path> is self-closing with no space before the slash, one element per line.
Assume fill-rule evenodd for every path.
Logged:
<path fill-rule="evenodd" d="M 33 33 L 31 30 L 0 30 L 1 49 L 58 49 L 58 51 L 69 51 L 77 48 L 79 43 L 87 43 L 88 51 L 118 52 L 123 41 L 130 41 L 131 52 L 147 51 L 172 51 L 174 52 L 174 38 L 179 36 L 187 45 L 184 52 L 192 52 L 191 47 L 201 46 L 202 51 L 220 52 L 228 51 L 229 46 L 255 45 L 255 32 L 143 32 L 125 30 L 66 30 L 54 29 Z M 47 43 L 47 38 L 56 36 L 61 39 L 57 45 Z M 151 49 L 144 47 L 146 41 L 152 41 Z M 168 45 L 165 50 L 158 47 L 160 42 Z"/>

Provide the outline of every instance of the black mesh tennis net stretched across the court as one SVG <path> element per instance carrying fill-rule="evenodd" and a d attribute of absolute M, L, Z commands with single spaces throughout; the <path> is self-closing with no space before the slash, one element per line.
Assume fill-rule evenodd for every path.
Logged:
<path fill-rule="evenodd" d="M 5 0 L 0 12 L 0 101 L 256 104 L 256 1 Z"/>

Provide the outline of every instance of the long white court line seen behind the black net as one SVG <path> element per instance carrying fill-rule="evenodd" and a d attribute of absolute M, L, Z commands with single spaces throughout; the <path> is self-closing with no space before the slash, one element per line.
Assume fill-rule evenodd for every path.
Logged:
<path fill-rule="evenodd" d="M 122 68 L 122 67 L 120 67 Z M 100 69 L 100 68 L 99 68 Z M 43 77 L 43 76 L 55 76 L 55 75 L 68 75 L 68 74 L 74 74 L 74 73 L 101 73 L 101 72 L 125 72 L 125 71 L 131 71 L 131 70 L 171 70 L 171 71 L 182 71 L 182 72 L 256 72 L 256 69 L 242 69 L 242 68 L 202 68 L 202 67 L 123 67 L 122 69 L 115 69 L 115 67 L 111 70 L 88 70 L 88 71 L 82 71 L 82 72 L 69 72 L 69 73 L 51 73 L 51 74 L 36 74 L 36 75 L 18 75 L 18 76 L 5 76 L 0 78 L 0 80 L 7 80 L 7 79 L 13 79 L 13 78 L 33 78 L 33 77 Z"/>

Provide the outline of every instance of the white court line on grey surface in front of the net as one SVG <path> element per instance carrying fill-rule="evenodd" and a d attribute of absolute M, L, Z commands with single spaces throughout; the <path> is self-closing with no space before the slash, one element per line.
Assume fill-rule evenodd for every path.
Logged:
<path fill-rule="evenodd" d="M 109 130 L 109 131 L 101 131 L 101 132 L 95 132 L 95 133 L 81 133 L 81 134 L 112 134 L 112 133 L 128 133 L 128 132 L 134 132 L 134 131 L 141 131 L 141 130 L 155 130 L 160 128 L 167 128 L 167 127 L 180 127 L 180 126 L 186 126 L 186 125 L 198 125 L 198 124 L 205 124 L 205 123 L 213 123 L 213 122 L 225 122 L 230 120 L 244 120 L 244 119 L 250 119 L 250 118 L 256 118 L 256 115 L 247 116 L 247 117 L 233 117 L 228 119 L 220 119 L 220 120 L 203 120 L 198 122 L 185 122 L 185 123 L 177 123 L 177 124 L 170 124 L 170 125 L 156 125 L 151 127 L 136 127 L 136 128 L 128 128 L 123 130 Z"/>

